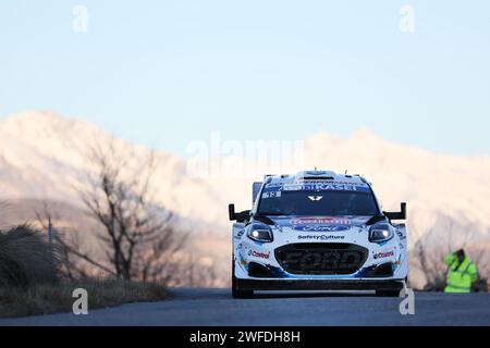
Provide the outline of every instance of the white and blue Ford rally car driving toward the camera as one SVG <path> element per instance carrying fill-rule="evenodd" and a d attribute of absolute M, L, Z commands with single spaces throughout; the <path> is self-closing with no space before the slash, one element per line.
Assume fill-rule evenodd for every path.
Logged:
<path fill-rule="evenodd" d="M 401 212 L 383 212 L 358 175 L 327 171 L 266 175 L 254 207 L 235 212 L 232 294 L 254 290 L 376 290 L 399 296 L 408 271 Z"/>

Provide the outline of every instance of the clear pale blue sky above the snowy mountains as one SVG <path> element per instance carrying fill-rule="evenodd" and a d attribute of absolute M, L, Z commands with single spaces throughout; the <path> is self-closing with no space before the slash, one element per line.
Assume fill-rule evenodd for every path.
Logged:
<path fill-rule="evenodd" d="M 75 4 L 87 34 L 72 30 Z M 404 4 L 414 34 L 399 28 Z M 488 0 L 2 1 L 0 45 L 0 120 L 54 110 L 180 154 L 211 130 L 364 126 L 490 156 Z"/>

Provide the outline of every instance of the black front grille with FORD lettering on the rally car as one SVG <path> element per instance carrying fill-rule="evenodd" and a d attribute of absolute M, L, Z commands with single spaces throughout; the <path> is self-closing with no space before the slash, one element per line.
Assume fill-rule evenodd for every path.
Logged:
<path fill-rule="evenodd" d="M 353 274 L 367 257 L 368 250 L 354 244 L 292 244 L 275 249 L 275 259 L 291 274 Z"/>

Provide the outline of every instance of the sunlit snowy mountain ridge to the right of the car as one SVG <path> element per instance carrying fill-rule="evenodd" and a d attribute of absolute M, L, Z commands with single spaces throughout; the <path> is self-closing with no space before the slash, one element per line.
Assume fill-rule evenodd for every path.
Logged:
<path fill-rule="evenodd" d="M 467 228 L 482 237 L 490 234 L 490 158 L 437 156 L 367 130 L 350 139 L 315 135 L 306 140 L 306 152 L 309 166 L 362 173 L 385 210 L 407 201 L 413 237 L 431 228 L 441 237 Z"/>

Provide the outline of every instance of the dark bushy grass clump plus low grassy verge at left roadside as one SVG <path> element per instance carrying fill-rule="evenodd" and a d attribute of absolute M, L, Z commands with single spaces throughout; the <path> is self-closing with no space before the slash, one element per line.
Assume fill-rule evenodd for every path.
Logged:
<path fill-rule="evenodd" d="M 0 231 L 0 318 L 72 311 L 73 290 L 88 293 L 88 309 L 169 296 L 162 285 L 115 279 L 61 279 L 58 250 L 27 225 Z"/>

